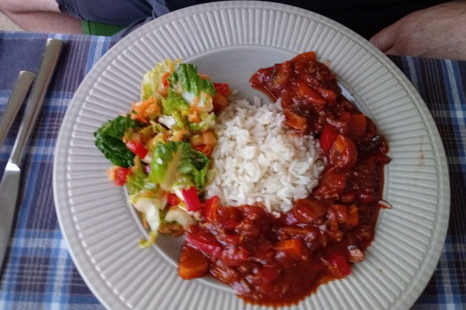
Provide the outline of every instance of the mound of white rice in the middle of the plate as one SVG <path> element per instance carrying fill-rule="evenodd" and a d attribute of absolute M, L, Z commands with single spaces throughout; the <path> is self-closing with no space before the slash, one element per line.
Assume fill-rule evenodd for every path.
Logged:
<path fill-rule="evenodd" d="M 253 104 L 236 100 L 220 113 L 207 197 L 217 195 L 223 205 L 261 202 L 269 212 L 287 212 L 294 200 L 308 196 L 324 168 L 318 141 L 287 132 L 284 119 L 280 102 L 262 105 L 257 96 Z"/>

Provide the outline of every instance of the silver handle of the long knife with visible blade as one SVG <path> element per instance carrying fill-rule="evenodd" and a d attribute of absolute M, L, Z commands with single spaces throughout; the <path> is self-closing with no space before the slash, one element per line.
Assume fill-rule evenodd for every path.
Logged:
<path fill-rule="evenodd" d="M 39 70 L 37 71 L 37 76 L 31 89 L 26 109 L 24 110 L 15 146 L 13 146 L 9 160 L 9 162 L 17 166 L 20 166 L 23 160 L 28 140 L 33 132 L 35 121 L 44 102 L 45 94 L 47 93 L 62 48 L 63 41 L 56 39 L 47 40 L 44 55 L 42 56 L 42 61 L 40 62 Z"/>

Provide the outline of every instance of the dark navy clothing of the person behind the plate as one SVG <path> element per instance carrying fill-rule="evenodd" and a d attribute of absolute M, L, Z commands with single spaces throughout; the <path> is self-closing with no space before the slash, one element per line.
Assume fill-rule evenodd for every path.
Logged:
<path fill-rule="evenodd" d="M 277 1 L 327 16 L 366 39 L 417 10 L 445 0 L 314 0 Z M 145 22 L 187 6 L 210 0 L 57 0 L 60 10 L 84 20 L 127 26 L 126 35 Z"/>

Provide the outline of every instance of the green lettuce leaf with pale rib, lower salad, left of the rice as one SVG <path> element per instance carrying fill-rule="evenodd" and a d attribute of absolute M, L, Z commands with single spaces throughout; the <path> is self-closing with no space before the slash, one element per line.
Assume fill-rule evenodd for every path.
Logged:
<path fill-rule="evenodd" d="M 202 190 L 208 167 L 207 156 L 193 149 L 191 144 L 179 141 L 159 142 L 152 156 L 149 181 L 168 192 L 191 186 Z"/>

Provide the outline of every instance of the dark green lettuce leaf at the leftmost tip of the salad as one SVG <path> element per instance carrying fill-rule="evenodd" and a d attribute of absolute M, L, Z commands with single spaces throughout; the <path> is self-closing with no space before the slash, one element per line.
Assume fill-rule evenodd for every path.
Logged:
<path fill-rule="evenodd" d="M 130 114 L 119 115 L 116 119 L 105 122 L 94 132 L 95 145 L 112 164 L 123 168 L 133 166 L 134 154 L 126 147 L 121 138 L 128 128 L 141 126 L 141 123 L 131 119 Z"/>

